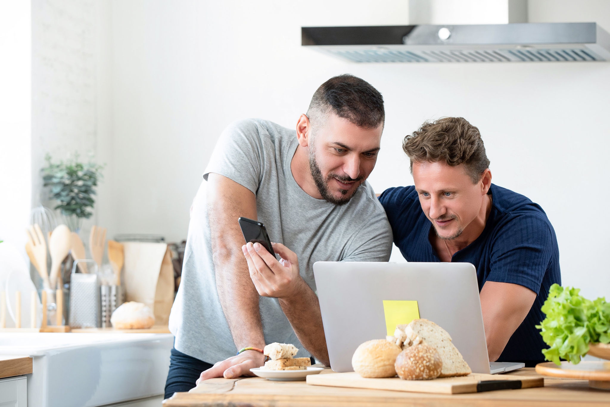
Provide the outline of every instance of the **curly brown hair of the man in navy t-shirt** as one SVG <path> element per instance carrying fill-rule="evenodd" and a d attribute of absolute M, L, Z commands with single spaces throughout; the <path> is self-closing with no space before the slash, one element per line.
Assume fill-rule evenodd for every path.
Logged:
<path fill-rule="evenodd" d="M 483 171 L 489 168 L 489 159 L 479 129 L 463 117 L 443 117 L 426 121 L 422 127 L 404 137 L 404 153 L 413 162 L 445 161 L 451 167 L 464 164 L 476 184 Z"/>

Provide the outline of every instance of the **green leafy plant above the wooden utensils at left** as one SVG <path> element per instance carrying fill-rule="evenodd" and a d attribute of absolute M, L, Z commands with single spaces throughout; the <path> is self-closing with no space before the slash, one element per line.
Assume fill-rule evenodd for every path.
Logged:
<path fill-rule="evenodd" d="M 78 232 L 82 220 L 93 215 L 91 209 L 95 204 L 93 195 L 102 179 L 103 165 L 79 161 L 79 154 L 65 162 L 52 162 L 51 156 L 45 156 L 47 166 L 42 168 L 45 187 L 51 187 L 51 199 L 58 201 L 55 209 L 59 209 L 66 218 L 66 224 L 71 231 Z"/>

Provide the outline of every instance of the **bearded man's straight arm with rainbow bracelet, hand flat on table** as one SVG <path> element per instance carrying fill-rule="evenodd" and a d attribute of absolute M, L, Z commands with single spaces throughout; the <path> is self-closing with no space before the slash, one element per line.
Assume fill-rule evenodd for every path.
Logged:
<path fill-rule="evenodd" d="M 207 178 L 207 216 L 218 298 L 237 349 L 265 347 L 260 320 L 259 294 L 254 288 L 241 247 L 243 235 L 237 219 L 256 219 L 256 196 L 243 185 L 210 173 Z M 218 362 L 199 380 L 250 375 L 251 367 L 264 364 L 262 353 L 249 350 Z"/>

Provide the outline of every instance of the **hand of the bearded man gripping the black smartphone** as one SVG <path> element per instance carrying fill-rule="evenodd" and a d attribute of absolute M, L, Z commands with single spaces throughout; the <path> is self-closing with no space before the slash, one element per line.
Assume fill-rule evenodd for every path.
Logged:
<path fill-rule="evenodd" d="M 298 295 L 307 285 L 299 275 L 299 262 L 294 253 L 281 243 L 271 243 L 273 251 L 281 257 L 278 261 L 260 243 L 242 246 L 248 261 L 250 278 L 262 297 L 285 298 Z"/>

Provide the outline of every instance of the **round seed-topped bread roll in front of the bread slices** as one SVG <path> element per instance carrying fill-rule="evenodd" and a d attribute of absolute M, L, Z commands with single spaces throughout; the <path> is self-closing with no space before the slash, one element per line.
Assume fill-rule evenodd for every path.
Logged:
<path fill-rule="evenodd" d="M 401 351 L 394 368 L 401 379 L 430 380 L 440 375 L 443 361 L 436 348 L 420 344 Z"/>

